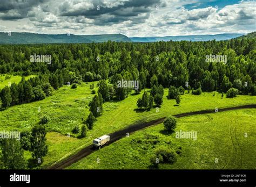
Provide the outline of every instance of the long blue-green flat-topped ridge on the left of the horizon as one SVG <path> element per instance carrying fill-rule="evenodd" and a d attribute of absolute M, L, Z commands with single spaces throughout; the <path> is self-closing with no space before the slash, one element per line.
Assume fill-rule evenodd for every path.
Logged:
<path fill-rule="evenodd" d="M 91 43 L 104 41 L 131 41 L 123 34 L 74 35 L 74 34 L 36 34 L 0 32 L 0 44 L 65 44 Z"/>

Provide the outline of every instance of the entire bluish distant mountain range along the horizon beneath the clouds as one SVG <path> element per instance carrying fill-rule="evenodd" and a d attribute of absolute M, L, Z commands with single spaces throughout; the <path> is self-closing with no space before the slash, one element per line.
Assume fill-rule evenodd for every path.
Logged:
<path fill-rule="evenodd" d="M 243 34 L 215 34 L 215 35 L 179 35 L 167 37 L 126 37 L 123 34 L 101 35 L 75 35 L 75 34 L 36 34 L 26 32 L 0 32 L 0 44 L 64 44 L 64 43 L 90 43 L 104 41 L 122 42 L 155 42 L 155 41 L 208 41 L 229 40 L 241 37 Z"/>

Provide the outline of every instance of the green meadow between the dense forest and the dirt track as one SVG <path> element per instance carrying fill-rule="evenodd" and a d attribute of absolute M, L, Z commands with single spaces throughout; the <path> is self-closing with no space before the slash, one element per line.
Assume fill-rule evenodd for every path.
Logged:
<path fill-rule="evenodd" d="M 213 92 L 205 92 L 200 96 L 186 93 L 181 96 L 180 105 L 175 106 L 175 100 L 166 98 L 168 91 L 165 89 L 164 102 L 159 111 L 154 108 L 151 111 L 139 112 L 136 110 L 136 103 L 143 94 L 141 92 L 140 95 L 130 95 L 120 102 L 106 102 L 103 116 L 97 118 L 93 130 L 87 132 L 85 138 L 77 139 L 77 135 L 72 134 L 71 131 L 76 124 L 81 126 L 82 118 L 86 119 L 89 114 L 88 104 L 93 97 L 90 84 L 92 83 L 82 83 L 77 89 L 64 86 L 55 91 L 53 96 L 44 100 L 16 105 L 0 111 L 0 130 L 30 131 L 32 125 L 38 123 L 39 117 L 47 114 L 50 117 L 46 135 L 49 153 L 42 164 L 42 167 L 46 167 L 90 145 L 96 137 L 120 130 L 138 120 L 150 121 L 170 114 L 253 104 L 256 98 L 255 96 L 237 96 L 233 99 L 226 97 L 221 99 L 221 94 L 217 92 L 215 96 Z M 97 82 L 94 84 L 96 85 Z M 41 112 L 38 112 L 38 107 Z M 71 135 L 70 138 L 67 136 L 68 133 Z M 30 154 L 26 154 L 26 157 L 29 158 Z"/>

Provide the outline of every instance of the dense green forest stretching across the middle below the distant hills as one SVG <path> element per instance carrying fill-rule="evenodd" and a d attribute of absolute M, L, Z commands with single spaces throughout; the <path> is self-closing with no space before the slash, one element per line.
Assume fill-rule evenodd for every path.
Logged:
<path fill-rule="evenodd" d="M 51 63 L 31 62 L 31 55 L 51 55 Z M 227 62 L 206 61 L 207 55 L 226 55 Z M 153 43 L 1 45 L 0 73 L 37 75 L 1 91 L 2 108 L 41 100 L 63 85 L 109 80 L 107 100 L 124 99 L 131 89 L 117 88 L 119 80 L 139 81 L 139 90 L 201 89 L 255 95 L 255 38 L 226 41 L 169 41 Z M 104 84 L 104 82 L 102 82 Z M 171 89 L 171 88 L 170 88 Z"/>

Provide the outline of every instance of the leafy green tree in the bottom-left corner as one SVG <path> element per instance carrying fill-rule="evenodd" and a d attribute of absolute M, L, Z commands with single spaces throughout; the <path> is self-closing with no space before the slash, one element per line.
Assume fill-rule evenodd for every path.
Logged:
<path fill-rule="evenodd" d="M 4 139 L 2 143 L 2 157 L 4 169 L 25 169 L 24 150 L 21 143 L 13 138 Z"/>

